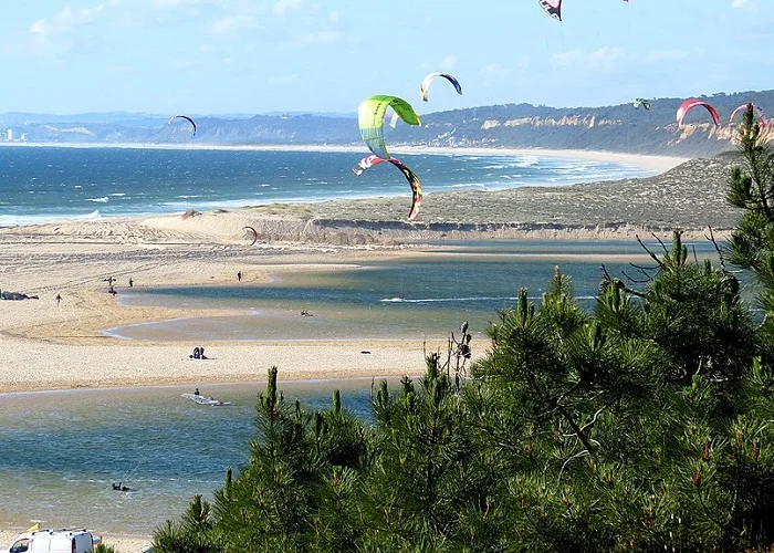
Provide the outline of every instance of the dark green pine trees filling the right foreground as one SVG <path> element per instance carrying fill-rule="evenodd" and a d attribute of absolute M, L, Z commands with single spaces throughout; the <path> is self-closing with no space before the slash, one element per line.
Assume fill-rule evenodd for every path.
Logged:
<path fill-rule="evenodd" d="M 674 231 L 593 313 L 556 270 L 491 343 L 467 328 L 365 425 L 290 405 L 270 371 L 249 463 L 158 529 L 171 552 L 765 551 L 774 544 L 774 155 L 752 113 L 712 264 Z M 763 322 L 732 263 L 760 281 Z M 470 347 L 487 354 L 472 365 Z"/>

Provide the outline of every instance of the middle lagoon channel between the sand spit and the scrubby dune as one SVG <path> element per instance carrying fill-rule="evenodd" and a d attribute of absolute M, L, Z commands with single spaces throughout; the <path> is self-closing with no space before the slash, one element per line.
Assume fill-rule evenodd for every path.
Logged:
<path fill-rule="evenodd" d="M 713 254 L 709 242 L 689 244 Z M 439 251 L 357 269 L 283 274 L 264 285 L 135 288 L 126 305 L 234 310 L 232 316 L 176 319 L 109 328 L 114 336 L 170 341 L 444 337 L 462 321 L 482 334 L 521 288 L 538 302 L 559 265 L 582 306 L 593 309 L 602 264 L 615 276 L 653 265 L 636 241 L 447 243 Z M 245 269 L 249 271 L 249 269 Z M 641 274 L 637 274 L 641 278 Z M 300 316 L 302 310 L 314 316 Z"/>

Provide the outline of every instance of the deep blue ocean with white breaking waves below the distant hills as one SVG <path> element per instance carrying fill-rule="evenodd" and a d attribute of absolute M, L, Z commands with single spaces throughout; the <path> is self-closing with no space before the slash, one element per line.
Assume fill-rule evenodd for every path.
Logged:
<path fill-rule="evenodd" d="M 410 196 L 391 166 L 356 176 L 345 152 L 0 146 L 0 226 Z M 406 154 L 425 192 L 642 177 L 634 165 L 537 156 Z"/>

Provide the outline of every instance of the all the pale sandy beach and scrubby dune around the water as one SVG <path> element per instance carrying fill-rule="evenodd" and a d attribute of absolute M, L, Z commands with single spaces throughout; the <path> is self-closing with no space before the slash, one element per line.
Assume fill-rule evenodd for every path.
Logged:
<path fill-rule="evenodd" d="M 659 171 L 683 167 L 678 167 L 683 161 L 679 158 L 583 150 L 439 153 L 566 155 Z M 241 284 L 260 283 L 283 271 L 313 271 L 322 263 L 331 270 L 332 261 L 346 268 L 411 254 L 415 240 L 634 240 L 649 233 L 668 238 L 673 227 L 701 237 L 705 225 L 719 229 L 722 237 L 736 213 L 720 194 L 728 167 L 713 163 L 697 165 L 697 170 L 710 167 L 718 175 L 717 182 L 702 181 L 714 187 L 709 194 L 697 189 L 688 169 L 562 189 L 439 192 L 426 196 L 416 223 L 405 221 L 406 198 L 379 198 L 0 228 L 0 290 L 39 296 L 0 302 L 0 393 L 254 382 L 272 365 L 283 379 L 418 374 L 425 353 L 446 351 L 444 341 L 224 342 L 208 346 L 207 362 L 194 363 L 188 355 L 200 344 L 164 342 L 163 337 L 133 342 L 101 331 L 228 312 L 123 306 L 108 293 L 106 279 L 116 279 L 114 289 L 121 296 L 129 278 L 135 286 L 239 285 L 241 271 Z M 635 194 L 637 201 L 632 201 Z M 245 227 L 255 229 L 255 244 Z M 477 348 L 475 354 L 484 349 Z M 22 530 L 0 526 L 0 544 L 10 544 Z M 150 544 L 149 536 L 105 538 L 119 552 L 138 552 Z"/>

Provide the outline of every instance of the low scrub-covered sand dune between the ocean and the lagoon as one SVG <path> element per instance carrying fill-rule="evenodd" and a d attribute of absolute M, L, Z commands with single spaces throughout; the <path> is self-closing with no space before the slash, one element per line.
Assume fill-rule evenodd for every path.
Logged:
<path fill-rule="evenodd" d="M 222 238 L 337 246 L 395 244 L 414 240 L 512 238 L 626 238 L 732 229 L 741 215 L 725 202 L 736 155 L 686 161 L 661 175 L 566 187 L 425 196 L 417 221 L 406 221 L 408 197 L 271 205 L 154 218 L 155 228 L 198 229 Z"/>

